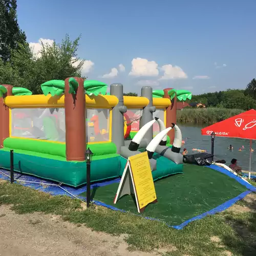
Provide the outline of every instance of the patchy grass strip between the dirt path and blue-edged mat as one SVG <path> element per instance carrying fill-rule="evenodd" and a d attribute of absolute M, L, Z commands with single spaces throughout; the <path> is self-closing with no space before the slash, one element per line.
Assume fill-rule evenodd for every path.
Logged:
<path fill-rule="evenodd" d="M 51 196 L 0 180 L 0 205 L 12 204 L 11 209 L 17 214 L 35 211 L 57 214 L 66 221 L 85 224 L 97 231 L 115 235 L 125 233 L 131 249 L 165 248 L 165 255 L 176 256 L 256 255 L 256 197 L 255 194 L 247 197 L 248 200 L 239 201 L 221 214 L 176 230 L 161 222 L 103 207 L 83 209 L 79 200 Z"/>

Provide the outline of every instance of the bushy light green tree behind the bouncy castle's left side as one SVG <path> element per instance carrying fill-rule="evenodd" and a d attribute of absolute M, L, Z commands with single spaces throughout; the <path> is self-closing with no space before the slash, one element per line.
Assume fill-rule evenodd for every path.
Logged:
<path fill-rule="evenodd" d="M 42 44 L 39 58 L 33 55 L 28 45 L 19 44 L 18 50 L 12 50 L 9 61 L 0 58 L 0 84 L 12 84 L 41 94 L 40 84 L 46 81 L 81 77 L 84 60 L 76 54 L 79 39 L 80 36 L 72 41 L 66 35 L 60 45 L 56 42 L 52 46 Z"/>

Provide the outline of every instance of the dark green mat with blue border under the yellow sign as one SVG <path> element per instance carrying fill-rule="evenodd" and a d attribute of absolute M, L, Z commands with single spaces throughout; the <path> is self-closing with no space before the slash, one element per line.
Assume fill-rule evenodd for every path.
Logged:
<path fill-rule="evenodd" d="M 138 214 L 134 196 L 125 195 L 114 204 L 118 185 L 94 187 L 93 200 Z M 247 190 L 225 174 L 194 164 L 184 164 L 183 174 L 156 181 L 155 189 L 158 202 L 147 205 L 141 215 L 172 226 L 216 208 Z M 86 197 L 86 193 L 81 196 Z"/>

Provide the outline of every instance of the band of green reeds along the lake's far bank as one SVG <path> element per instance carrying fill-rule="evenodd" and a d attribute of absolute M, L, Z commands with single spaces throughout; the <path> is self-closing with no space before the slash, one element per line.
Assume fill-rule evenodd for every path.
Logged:
<path fill-rule="evenodd" d="M 241 109 L 184 108 L 177 111 L 177 121 L 186 123 L 216 123 L 242 112 L 244 111 Z"/>

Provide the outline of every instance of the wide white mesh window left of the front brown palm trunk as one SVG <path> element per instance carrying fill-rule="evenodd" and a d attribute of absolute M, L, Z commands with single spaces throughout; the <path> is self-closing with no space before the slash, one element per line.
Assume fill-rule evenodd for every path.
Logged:
<path fill-rule="evenodd" d="M 65 109 L 12 109 L 11 137 L 65 142 Z"/>

